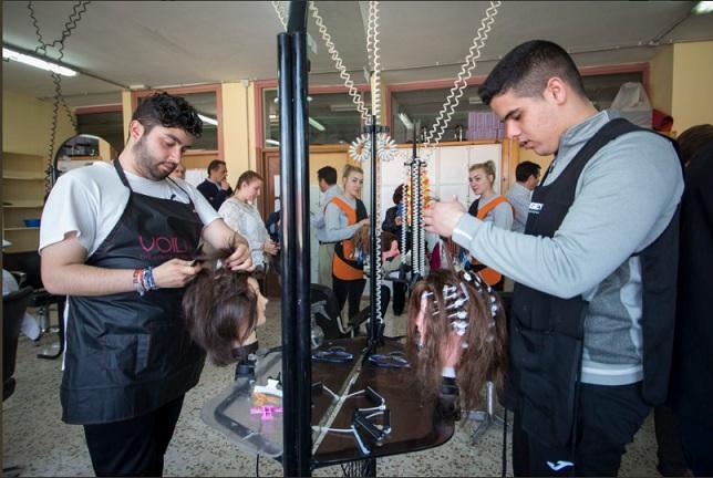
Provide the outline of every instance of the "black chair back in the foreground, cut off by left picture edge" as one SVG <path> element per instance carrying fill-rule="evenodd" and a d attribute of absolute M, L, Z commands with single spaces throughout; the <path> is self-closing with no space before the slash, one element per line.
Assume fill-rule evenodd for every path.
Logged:
<path fill-rule="evenodd" d="M 24 287 L 2 298 L 2 401 L 14 392 L 14 363 L 22 318 L 30 303 L 32 288 Z"/>

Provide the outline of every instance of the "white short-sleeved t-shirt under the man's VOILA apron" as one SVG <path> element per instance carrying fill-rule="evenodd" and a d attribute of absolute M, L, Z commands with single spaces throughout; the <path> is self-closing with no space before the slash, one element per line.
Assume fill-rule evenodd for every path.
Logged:
<path fill-rule="evenodd" d="M 183 179 L 155 181 L 124 173 L 134 193 L 184 204 L 190 199 L 204 226 L 219 219 L 195 186 Z M 42 211 L 40 252 L 62 241 L 68 232 L 76 231 L 80 243 L 87 250 L 87 257 L 92 256 L 122 217 L 128 194 L 114 165 L 108 163 L 96 162 L 63 174 L 52 188 Z"/>

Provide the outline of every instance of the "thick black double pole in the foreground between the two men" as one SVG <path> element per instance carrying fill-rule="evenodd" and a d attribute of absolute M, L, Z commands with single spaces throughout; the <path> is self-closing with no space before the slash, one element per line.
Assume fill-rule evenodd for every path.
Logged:
<path fill-rule="evenodd" d="M 282 201 L 282 404 L 285 476 L 311 474 L 309 321 L 309 142 L 307 3 L 292 1 L 288 33 L 278 35 Z"/>

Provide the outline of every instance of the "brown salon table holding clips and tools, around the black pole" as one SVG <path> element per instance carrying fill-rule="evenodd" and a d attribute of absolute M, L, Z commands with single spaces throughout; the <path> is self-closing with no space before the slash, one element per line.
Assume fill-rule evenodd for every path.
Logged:
<path fill-rule="evenodd" d="M 363 469 L 373 475 L 379 457 L 436 447 L 453 436 L 454 418 L 440 414 L 435 401 L 422 399 L 413 370 L 376 366 L 364 358 L 366 349 L 366 337 L 355 337 L 327 341 L 313 351 L 337 350 L 341 355 L 353 355 L 351 361 L 341 363 L 312 360 L 313 468 L 362 463 L 371 464 Z M 373 355 L 404 365 L 402 354 L 402 343 L 385 339 Z M 255 377 L 240 377 L 208 401 L 203 419 L 242 450 L 280 460 L 282 408 L 281 398 L 276 395 L 281 391 L 275 392 L 279 389 L 275 385 L 280 372 L 279 351 L 259 357 Z M 368 387 L 369 393 L 358 394 Z M 260 393 L 255 394 L 256 391 Z M 383 412 L 374 413 L 382 398 L 386 416 Z M 358 408 L 371 411 L 355 414 Z M 358 433 L 352 429 L 355 415 L 359 423 L 353 428 Z M 364 418 L 369 423 L 364 424 Z"/>

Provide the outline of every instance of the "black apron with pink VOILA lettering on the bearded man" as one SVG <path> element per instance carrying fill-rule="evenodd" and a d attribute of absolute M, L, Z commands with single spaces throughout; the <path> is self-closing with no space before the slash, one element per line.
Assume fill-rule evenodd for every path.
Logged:
<path fill-rule="evenodd" d="M 188 204 L 130 190 L 121 219 L 86 260 L 104 269 L 161 266 L 190 259 L 203 222 Z M 102 424 L 133 418 L 177 398 L 198 383 L 205 353 L 185 330 L 184 289 L 70 297 L 62 419 Z"/>

